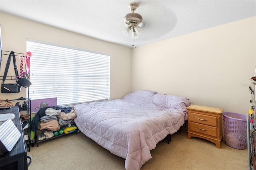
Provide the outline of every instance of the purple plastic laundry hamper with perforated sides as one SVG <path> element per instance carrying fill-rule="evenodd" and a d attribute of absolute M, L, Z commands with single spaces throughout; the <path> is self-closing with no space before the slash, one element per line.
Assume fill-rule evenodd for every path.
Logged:
<path fill-rule="evenodd" d="M 246 115 L 224 112 L 224 138 L 225 143 L 236 149 L 245 149 L 247 145 Z"/>

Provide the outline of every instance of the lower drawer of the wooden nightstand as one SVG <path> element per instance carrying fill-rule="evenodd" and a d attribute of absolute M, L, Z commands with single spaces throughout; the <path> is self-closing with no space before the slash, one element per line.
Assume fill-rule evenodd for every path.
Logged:
<path fill-rule="evenodd" d="M 199 123 L 194 123 L 190 122 L 190 129 L 195 132 L 203 133 L 203 134 L 208 134 L 210 136 L 217 136 L 217 128 L 216 127 L 211 127 L 207 125 L 202 125 Z"/>

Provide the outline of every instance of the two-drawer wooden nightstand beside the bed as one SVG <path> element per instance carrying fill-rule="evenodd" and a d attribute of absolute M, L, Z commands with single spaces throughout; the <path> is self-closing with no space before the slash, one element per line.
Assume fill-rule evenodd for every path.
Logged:
<path fill-rule="evenodd" d="M 220 147 L 222 140 L 222 111 L 215 107 L 190 105 L 188 110 L 188 139 L 198 137 Z"/>

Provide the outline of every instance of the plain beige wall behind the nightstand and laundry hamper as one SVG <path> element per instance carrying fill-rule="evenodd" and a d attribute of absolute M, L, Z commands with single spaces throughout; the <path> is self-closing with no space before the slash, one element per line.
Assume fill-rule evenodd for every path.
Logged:
<path fill-rule="evenodd" d="M 188 97 L 195 105 L 248 113 L 256 66 L 256 17 L 136 47 L 132 91 Z"/>

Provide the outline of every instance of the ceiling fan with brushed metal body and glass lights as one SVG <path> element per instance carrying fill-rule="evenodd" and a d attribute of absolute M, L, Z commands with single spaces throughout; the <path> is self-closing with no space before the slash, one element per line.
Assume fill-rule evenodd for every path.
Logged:
<path fill-rule="evenodd" d="M 138 26 L 138 24 L 142 22 L 142 16 L 134 12 L 138 8 L 138 4 L 130 3 L 129 8 L 131 13 L 126 14 L 124 17 L 124 23 L 128 25 L 128 27 L 124 29 L 124 34 L 128 34 L 132 31 L 132 46 L 135 48 L 135 39 L 138 38 L 138 35 L 142 30 L 142 28 Z"/>

